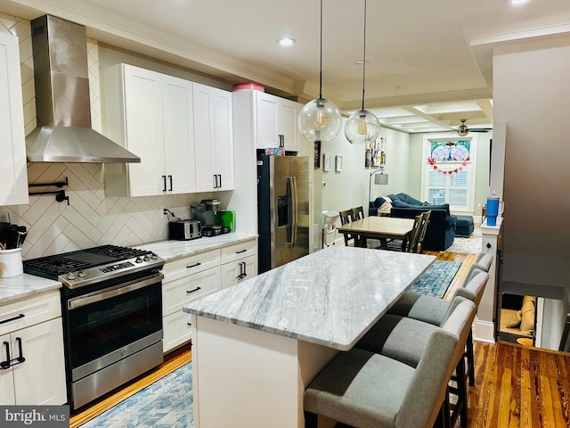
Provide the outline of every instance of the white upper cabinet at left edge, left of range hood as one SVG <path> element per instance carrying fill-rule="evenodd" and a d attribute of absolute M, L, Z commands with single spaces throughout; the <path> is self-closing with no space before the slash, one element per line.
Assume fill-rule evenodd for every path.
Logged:
<path fill-rule="evenodd" d="M 0 206 L 28 203 L 18 37 L 0 33 Z"/>

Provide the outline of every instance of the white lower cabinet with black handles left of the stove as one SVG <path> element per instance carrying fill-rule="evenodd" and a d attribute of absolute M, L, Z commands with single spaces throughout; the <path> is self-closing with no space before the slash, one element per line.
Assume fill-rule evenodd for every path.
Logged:
<path fill-rule="evenodd" d="M 60 292 L 8 303 L 1 312 L 0 403 L 66 403 Z"/>

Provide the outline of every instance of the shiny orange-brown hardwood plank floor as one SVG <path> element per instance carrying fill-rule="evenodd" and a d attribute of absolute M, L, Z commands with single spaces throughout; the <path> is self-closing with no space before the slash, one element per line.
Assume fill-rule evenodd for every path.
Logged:
<path fill-rule="evenodd" d="M 446 292 L 447 298 L 463 283 L 476 260 L 473 254 L 425 253 L 462 262 Z M 468 428 L 570 428 L 570 354 L 515 343 L 476 342 L 475 358 L 476 385 L 468 388 Z M 70 428 L 85 424 L 189 361 L 189 347 L 175 351 L 150 374 L 73 414 Z"/>

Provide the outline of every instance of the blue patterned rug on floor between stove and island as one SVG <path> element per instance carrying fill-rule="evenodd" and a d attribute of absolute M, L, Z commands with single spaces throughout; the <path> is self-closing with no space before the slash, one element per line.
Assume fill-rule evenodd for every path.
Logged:
<path fill-rule="evenodd" d="M 189 428 L 194 426 L 192 363 L 188 363 L 81 428 Z"/>

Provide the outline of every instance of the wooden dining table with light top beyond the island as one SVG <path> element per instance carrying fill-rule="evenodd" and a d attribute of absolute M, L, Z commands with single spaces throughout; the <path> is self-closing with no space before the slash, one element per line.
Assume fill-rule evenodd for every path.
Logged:
<path fill-rule="evenodd" d="M 406 250 L 413 228 L 413 218 L 365 217 L 337 228 L 343 235 L 354 237 L 354 245 L 366 248 L 367 239 L 379 239 L 380 248 L 387 250 L 387 240 L 402 240 L 402 251 Z"/>

